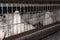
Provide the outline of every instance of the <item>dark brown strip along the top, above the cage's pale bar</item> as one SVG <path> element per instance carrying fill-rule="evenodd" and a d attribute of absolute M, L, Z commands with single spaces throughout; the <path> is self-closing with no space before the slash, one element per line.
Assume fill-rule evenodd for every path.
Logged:
<path fill-rule="evenodd" d="M 60 0 L 0 0 L 0 3 L 58 4 Z"/>

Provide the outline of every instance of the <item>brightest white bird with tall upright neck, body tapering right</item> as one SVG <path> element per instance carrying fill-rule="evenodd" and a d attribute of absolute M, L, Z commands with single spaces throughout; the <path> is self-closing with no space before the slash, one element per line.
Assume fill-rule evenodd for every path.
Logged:
<path fill-rule="evenodd" d="M 27 22 L 22 22 L 22 18 L 19 11 L 14 12 L 14 24 L 17 24 L 14 25 L 14 33 L 17 33 L 17 29 L 18 29 L 18 33 L 20 32 L 19 30 L 24 32 L 24 31 L 34 29 L 34 27 L 31 24 L 27 24 Z M 28 28 L 28 30 L 26 28 Z"/>

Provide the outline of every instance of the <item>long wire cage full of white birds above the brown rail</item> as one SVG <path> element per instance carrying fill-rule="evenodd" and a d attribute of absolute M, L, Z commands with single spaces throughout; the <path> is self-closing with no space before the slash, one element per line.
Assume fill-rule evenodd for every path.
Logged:
<path fill-rule="evenodd" d="M 0 3 L 0 39 L 60 21 L 59 7 L 59 4 Z"/>

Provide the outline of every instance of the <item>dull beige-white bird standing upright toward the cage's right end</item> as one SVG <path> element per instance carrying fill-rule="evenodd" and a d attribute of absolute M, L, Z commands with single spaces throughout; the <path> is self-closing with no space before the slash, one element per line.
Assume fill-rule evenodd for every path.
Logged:
<path fill-rule="evenodd" d="M 43 25 L 48 25 L 48 24 L 51 24 L 52 22 L 53 22 L 53 19 L 51 17 L 51 12 L 46 11 L 45 16 L 44 16 L 44 20 L 43 20 Z"/>

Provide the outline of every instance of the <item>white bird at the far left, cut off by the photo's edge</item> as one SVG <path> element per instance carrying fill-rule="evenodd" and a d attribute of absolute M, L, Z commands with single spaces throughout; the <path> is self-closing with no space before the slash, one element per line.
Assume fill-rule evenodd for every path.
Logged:
<path fill-rule="evenodd" d="M 4 18 L 5 18 L 4 15 L 0 16 L 0 40 L 3 40 L 3 38 L 5 37 L 5 32 L 6 32 L 5 30 L 6 24 L 4 23 L 4 20 L 3 20 Z"/>

